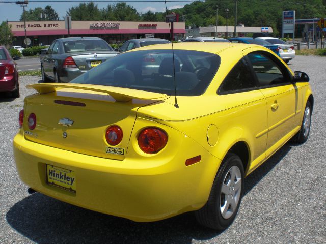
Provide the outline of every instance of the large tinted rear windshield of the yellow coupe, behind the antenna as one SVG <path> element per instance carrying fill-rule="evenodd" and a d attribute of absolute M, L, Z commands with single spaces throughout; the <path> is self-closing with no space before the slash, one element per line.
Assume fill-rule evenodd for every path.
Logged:
<path fill-rule="evenodd" d="M 147 90 L 178 96 L 205 92 L 220 66 L 220 56 L 200 51 L 142 50 L 115 56 L 71 83 Z M 173 71 L 175 67 L 175 75 Z"/>

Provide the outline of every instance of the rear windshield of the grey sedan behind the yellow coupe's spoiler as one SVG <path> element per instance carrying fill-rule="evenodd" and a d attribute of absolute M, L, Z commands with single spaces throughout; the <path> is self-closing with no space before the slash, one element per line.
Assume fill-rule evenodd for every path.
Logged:
<path fill-rule="evenodd" d="M 76 40 L 63 42 L 65 52 L 112 51 L 104 40 Z"/>

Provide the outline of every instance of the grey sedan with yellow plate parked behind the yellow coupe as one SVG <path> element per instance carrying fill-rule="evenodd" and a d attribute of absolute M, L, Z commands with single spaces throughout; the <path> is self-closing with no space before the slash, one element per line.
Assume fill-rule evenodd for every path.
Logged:
<path fill-rule="evenodd" d="M 69 82 L 117 54 L 98 37 L 56 39 L 41 60 L 42 79 Z"/>

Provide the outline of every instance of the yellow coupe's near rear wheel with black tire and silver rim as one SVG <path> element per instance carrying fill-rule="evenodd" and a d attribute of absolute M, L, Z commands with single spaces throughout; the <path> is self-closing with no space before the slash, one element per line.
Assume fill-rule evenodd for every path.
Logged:
<path fill-rule="evenodd" d="M 243 164 L 229 153 L 215 176 L 207 203 L 195 212 L 197 221 L 208 228 L 224 230 L 234 221 L 243 195 Z"/>

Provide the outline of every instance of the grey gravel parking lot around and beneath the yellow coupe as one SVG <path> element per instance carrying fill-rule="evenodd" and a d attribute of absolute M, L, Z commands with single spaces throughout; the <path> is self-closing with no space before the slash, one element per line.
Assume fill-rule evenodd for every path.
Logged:
<path fill-rule="evenodd" d="M 69 205 L 40 193 L 29 195 L 12 153 L 21 98 L 0 98 L 0 243 L 326 243 L 325 57 L 296 56 L 290 68 L 308 73 L 315 105 L 310 138 L 287 143 L 244 181 L 238 216 L 223 232 L 196 223 L 192 213 L 135 223 Z"/>

